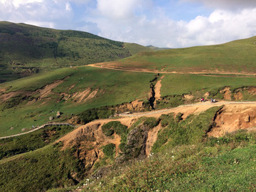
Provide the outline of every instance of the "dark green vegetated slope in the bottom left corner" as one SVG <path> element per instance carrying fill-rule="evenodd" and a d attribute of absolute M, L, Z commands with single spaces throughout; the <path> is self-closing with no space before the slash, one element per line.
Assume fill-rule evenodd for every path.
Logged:
<path fill-rule="evenodd" d="M 0 191 L 46 191 L 74 185 L 82 178 L 82 162 L 73 151 L 50 144 L 26 154 L 0 161 Z"/>

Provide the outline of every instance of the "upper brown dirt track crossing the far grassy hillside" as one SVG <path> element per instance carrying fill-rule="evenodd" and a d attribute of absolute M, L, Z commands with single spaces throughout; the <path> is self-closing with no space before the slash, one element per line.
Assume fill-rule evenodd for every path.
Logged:
<path fill-rule="evenodd" d="M 227 77 L 230 78 L 230 75 L 240 75 L 235 76 L 235 78 L 256 78 L 256 73 L 231 73 L 231 72 L 216 72 L 214 70 L 205 70 L 201 72 L 177 72 L 177 71 L 161 71 L 161 70 L 149 70 L 149 69 L 142 69 L 142 68 L 124 68 L 120 66 L 113 66 L 113 65 L 102 65 L 102 63 L 95 63 L 87 65 L 93 68 L 105 68 L 110 70 L 122 70 L 122 71 L 129 71 L 135 73 L 161 73 L 161 74 L 195 74 L 195 75 L 203 75 L 208 77 Z M 218 75 L 214 75 L 218 74 Z"/>

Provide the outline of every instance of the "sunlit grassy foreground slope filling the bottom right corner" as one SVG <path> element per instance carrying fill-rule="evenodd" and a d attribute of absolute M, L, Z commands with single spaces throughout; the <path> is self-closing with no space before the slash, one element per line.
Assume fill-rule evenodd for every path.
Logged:
<path fill-rule="evenodd" d="M 215 139 L 213 144 L 209 138 L 114 166 L 82 191 L 255 191 L 256 134 L 238 132 L 225 138 L 229 142 Z"/>

